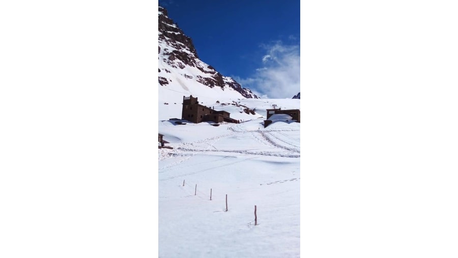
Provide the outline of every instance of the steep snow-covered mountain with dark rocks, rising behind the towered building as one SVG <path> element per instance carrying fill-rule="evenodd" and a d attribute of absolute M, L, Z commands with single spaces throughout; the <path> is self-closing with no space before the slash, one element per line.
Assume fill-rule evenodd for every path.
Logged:
<path fill-rule="evenodd" d="M 223 76 L 199 60 L 190 37 L 159 6 L 159 96 L 169 91 L 176 96 L 213 96 L 220 98 L 259 98 L 231 77 Z M 166 94 L 170 95 L 170 94 Z M 161 101 L 161 100 L 160 100 Z M 164 102 L 180 101 L 169 99 Z"/>

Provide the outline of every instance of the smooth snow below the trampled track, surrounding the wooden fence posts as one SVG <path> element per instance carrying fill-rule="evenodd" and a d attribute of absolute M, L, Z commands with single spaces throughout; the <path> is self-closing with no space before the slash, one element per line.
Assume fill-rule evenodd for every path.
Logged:
<path fill-rule="evenodd" d="M 195 155 L 160 169 L 159 255 L 299 257 L 299 162 L 289 159 Z"/>

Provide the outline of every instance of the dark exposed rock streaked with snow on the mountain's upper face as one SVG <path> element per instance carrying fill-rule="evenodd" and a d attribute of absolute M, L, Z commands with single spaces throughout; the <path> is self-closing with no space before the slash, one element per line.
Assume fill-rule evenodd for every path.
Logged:
<path fill-rule="evenodd" d="M 192 39 L 186 36 L 183 31 L 167 16 L 167 10 L 159 6 L 159 62 L 166 63 L 169 67 L 184 69 L 195 67 L 200 72 L 185 74 L 182 76 L 206 85 L 207 87 L 220 87 L 222 90 L 232 88 L 245 98 L 259 98 L 249 89 L 242 86 L 231 77 L 226 77 L 217 72 L 212 66 L 199 60 L 197 51 L 192 44 Z M 163 71 L 164 70 L 164 71 Z M 167 69 L 159 69 L 159 83 L 166 86 L 170 79 L 164 72 L 170 73 Z"/>

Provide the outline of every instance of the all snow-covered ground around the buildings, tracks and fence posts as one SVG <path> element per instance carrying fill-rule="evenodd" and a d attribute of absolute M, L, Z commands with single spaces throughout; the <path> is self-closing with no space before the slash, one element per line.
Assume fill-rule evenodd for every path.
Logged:
<path fill-rule="evenodd" d="M 181 118 L 176 102 L 159 105 L 159 133 L 174 148 L 158 150 L 159 257 L 299 257 L 300 124 L 261 123 L 273 102 L 300 100 L 236 100 L 255 115 L 211 102 L 244 121 L 219 126 L 169 120 Z"/>

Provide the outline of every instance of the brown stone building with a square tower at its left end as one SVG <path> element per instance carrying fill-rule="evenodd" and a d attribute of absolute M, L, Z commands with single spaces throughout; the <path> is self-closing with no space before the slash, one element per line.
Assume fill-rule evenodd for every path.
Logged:
<path fill-rule="evenodd" d="M 183 96 L 183 110 L 181 113 L 181 119 L 188 120 L 192 123 L 201 122 L 228 122 L 228 123 L 239 123 L 238 120 L 229 117 L 230 113 L 226 111 L 216 111 L 210 107 L 199 104 L 197 98 L 191 96 Z"/>

